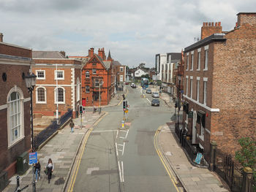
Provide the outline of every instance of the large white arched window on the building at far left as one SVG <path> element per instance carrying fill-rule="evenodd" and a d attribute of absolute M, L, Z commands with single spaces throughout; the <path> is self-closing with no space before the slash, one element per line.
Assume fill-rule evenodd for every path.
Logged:
<path fill-rule="evenodd" d="M 24 137 L 23 93 L 20 88 L 12 88 L 7 97 L 8 147 Z"/>

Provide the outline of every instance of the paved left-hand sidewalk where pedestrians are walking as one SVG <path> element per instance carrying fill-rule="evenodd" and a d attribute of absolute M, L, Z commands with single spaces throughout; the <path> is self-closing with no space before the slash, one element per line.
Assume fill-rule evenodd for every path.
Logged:
<path fill-rule="evenodd" d="M 50 139 L 41 150 L 37 151 L 41 164 L 41 180 L 37 182 L 37 191 L 61 191 L 68 177 L 69 169 L 72 168 L 83 135 L 86 134 L 88 128 L 91 128 L 94 122 L 104 114 L 105 112 L 102 112 L 100 115 L 98 112 L 86 112 L 86 115 L 83 115 L 82 118 L 83 128 L 80 128 L 80 118 L 76 118 L 73 120 L 75 123 L 74 133 L 70 133 L 69 125 L 67 125 L 59 130 L 59 134 L 56 134 L 53 139 Z M 54 172 L 50 184 L 48 184 L 47 175 L 43 172 L 48 158 L 51 158 L 54 164 Z M 4 189 L 4 192 L 15 191 L 16 176 L 17 175 L 10 178 L 11 182 L 7 188 Z M 33 174 L 30 166 L 26 174 L 20 176 L 20 188 L 29 185 L 29 188 L 26 188 L 24 191 L 32 191 L 32 180 Z"/>

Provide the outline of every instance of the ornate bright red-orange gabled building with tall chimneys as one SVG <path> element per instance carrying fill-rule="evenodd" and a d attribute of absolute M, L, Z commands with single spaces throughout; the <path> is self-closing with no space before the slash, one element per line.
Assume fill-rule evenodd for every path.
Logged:
<path fill-rule="evenodd" d="M 106 59 L 104 48 L 94 53 L 94 48 L 89 50 L 89 61 L 82 69 L 82 104 L 83 106 L 107 105 L 114 93 L 113 59 Z"/>

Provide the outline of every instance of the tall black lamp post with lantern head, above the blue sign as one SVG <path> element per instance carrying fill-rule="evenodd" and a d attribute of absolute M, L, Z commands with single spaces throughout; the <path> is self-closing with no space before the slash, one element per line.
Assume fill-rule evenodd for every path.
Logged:
<path fill-rule="evenodd" d="M 34 73 L 28 73 L 25 76 L 26 80 L 26 87 L 29 90 L 30 93 L 30 111 L 31 111 L 31 138 L 32 138 L 32 152 L 34 152 L 34 131 L 33 131 L 33 97 L 32 97 L 32 92 L 34 91 L 34 86 L 36 85 L 36 79 L 37 75 Z"/>

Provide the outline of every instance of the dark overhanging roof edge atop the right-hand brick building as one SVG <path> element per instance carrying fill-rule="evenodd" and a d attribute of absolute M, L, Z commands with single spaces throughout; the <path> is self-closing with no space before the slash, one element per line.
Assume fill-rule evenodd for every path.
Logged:
<path fill-rule="evenodd" d="M 225 42 L 225 34 L 212 34 L 209 37 L 206 37 L 205 39 L 201 39 L 199 42 L 195 42 L 192 45 L 189 45 L 189 47 L 186 47 L 184 49 L 184 53 L 189 52 L 190 50 L 195 50 L 199 47 L 203 47 L 204 45 L 208 45 L 211 42 Z"/>

